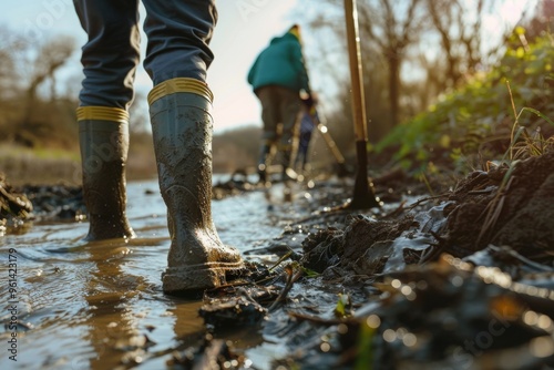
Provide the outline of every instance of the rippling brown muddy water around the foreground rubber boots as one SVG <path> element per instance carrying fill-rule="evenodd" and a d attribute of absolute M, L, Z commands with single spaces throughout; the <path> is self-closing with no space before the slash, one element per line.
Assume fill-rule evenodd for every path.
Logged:
<path fill-rule="evenodd" d="M 22 235 L 0 238 L 4 287 L 0 317 L 8 323 L 0 333 L 0 369 L 113 369 L 122 364 L 163 369 L 174 349 L 186 348 L 204 332 L 197 315 L 201 301 L 162 292 L 170 239 L 157 182 L 129 183 L 127 193 L 127 214 L 137 235 L 127 243 L 83 244 L 86 223 L 35 224 Z M 287 218 L 299 216 L 281 201 L 283 188 L 274 186 L 267 194 L 250 192 L 214 202 L 222 240 L 243 253 L 263 247 L 280 234 Z M 17 265 L 12 296 L 7 291 L 10 259 Z M 10 307 L 17 310 L 10 312 Z M 12 314 L 19 321 L 17 362 L 9 358 L 13 356 L 8 342 L 14 331 L 9 326 Z M 256 333 L 233 336 L 240 338 L 235 339 L 238 348 L 260 343 Z M 264 368 L 260 356 L 253 357 L 258 357 L 257 368 Z"/>

